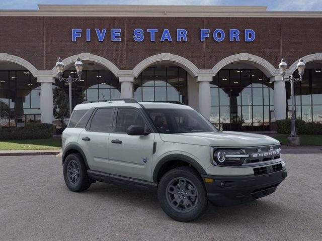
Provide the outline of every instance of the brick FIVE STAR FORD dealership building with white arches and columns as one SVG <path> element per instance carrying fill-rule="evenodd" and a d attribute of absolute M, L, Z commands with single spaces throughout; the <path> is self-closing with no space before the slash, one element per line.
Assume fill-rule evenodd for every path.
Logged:
<path fill-rule="evenodd" d="M 266 7 L 39 5 L 0 10 L 0 127 L 60 125 L 54 111 L 60 57 L 72 105 L 135 98 L 181 101 L 225 130 L 270 130 L 290 116 L 290 84 L 298 75 L 295 111 L 322 122 L 321 12 L 270 12 Z M 67 96 L 67 95 L 66 95 Z M 68 96 L 67 96 L 68 97 Z M 61 101 L 60 101 L 61 102 Z"/>

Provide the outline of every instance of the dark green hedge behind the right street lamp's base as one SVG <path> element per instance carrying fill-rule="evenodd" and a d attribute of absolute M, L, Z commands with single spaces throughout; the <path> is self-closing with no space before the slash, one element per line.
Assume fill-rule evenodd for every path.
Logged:
<path fill-rule="evenodd" d="M 291 133 L 291 120 L 282 119 L 276 121 L 277 123 L 277 132 L 282 134 Z M 297 134 L 305 135 L 322 135 L 322 124 L 319 123 L 305 123 L 301 119 L 295 120 L 295 130 Z"/>

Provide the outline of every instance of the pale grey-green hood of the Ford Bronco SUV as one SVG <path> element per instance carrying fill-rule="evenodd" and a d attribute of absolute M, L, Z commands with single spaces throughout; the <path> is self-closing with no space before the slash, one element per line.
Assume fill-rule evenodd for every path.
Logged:
<path fill-rule="evenodd" d="M 216 147 L 255 147 L 279 144 L 277 140 L 269 136 L 244 132 L 160 134 L 160 137 L 165 142 Z"/>

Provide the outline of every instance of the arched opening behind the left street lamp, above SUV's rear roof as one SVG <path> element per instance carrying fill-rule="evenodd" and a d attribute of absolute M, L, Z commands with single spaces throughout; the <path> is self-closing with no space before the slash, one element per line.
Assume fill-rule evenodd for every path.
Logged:
<path fill-rule="evenodd" d="M 97 62 L 89 60 L 83 60 L 83 64 L 82 80 L 72 83 L 72 107 L 87 100 L 120 97 L 121 85 L 112 71 Z M 71 77 L 77 77 L 73 63 L 66 65 L 65 69 L 63 77 L 68 77 L 69 75 Z M 53 85 L 53 101 L 54 124 L 57 126 L 65 126 L 69 119 L 68 90 L 69 84 L 60 82 L 56 78 L 56 83 Z M 67 101 L 61 101 L 62 98 L 67 98 Z M 59 113 L 59 109 L 61 108 L 66 111 L 60 111 Z"/>

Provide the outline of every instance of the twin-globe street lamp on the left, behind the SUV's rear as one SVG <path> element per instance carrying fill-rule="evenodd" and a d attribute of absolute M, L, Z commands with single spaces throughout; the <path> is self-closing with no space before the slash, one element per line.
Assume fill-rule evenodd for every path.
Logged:
<path fill-rule="evenodd" d="M 72 107 L 71 107 L 71 83 L 75 82 L 76 80 L 81 80 L 82 73 L 83 73 L 83 62 L 79 57 L 77 57 L 76 62 L 75 62 L 75 69 L 77 72 L 78 77 L 77 78 L 72 78 L 69 74 L 68 78 L 63 78 L 62 74 L 64 72 L 64 63 L 62 62 L 61 58 L 57 60 L 56 63 L 56 69 L 58 73 L 58 78 L 59 81 L 64 81 L 68 83 L 69 85 L 69 117 L 71 115 Z"/>

